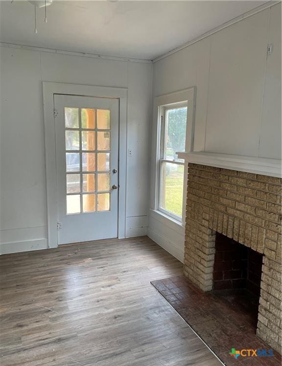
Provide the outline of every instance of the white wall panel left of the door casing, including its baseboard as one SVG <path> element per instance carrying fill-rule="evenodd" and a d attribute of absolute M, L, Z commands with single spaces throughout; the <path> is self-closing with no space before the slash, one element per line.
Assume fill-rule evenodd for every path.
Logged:
<path fill-rule="evenodd" d="M 1 48 L 0 252 L 46 248 L 40 53 Z"/>

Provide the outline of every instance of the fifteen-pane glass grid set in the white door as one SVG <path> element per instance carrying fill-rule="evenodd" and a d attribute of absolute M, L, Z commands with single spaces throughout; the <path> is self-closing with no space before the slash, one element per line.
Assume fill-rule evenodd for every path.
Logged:
<path fill-rule="evenodd" d="M 78 124 L 75 122 L 70 122 L 70 115 L 67 116 L 67 113 L 70 112 L 70 109 L 72 110 L 73 116 L 75 119 L 78 118 Z M 94 117 L 94 123 L 92 121 L 92 126 L 94 126 L 94 128 L 87 128 L 87 127 L 83 127 L 82 128 L 82 111 L 85 113 L 88 111 L 91 111 L 90 114 L 93 115 Z M 97 121 L 97 111 L 99 114 L 99 118 L 101 117 L 106 117 L 107 120 L 106 121 L 102 121 L 99 122 Z M 74 190 L 73 192 L 71 192 L 71 188 L 68 187 L 67 185 L 67 214 L 71 214 L 71 213 L 84 213 L 84 212 L 96 212 L 96 211 L 108 211 L 110 210 L 110 135 L 111 135 L 111 123 L 110 123 L 110 110 L 107 109 L 90 109 L 90 108 L 69 108 L 69 107 L 65 107 L 65 136 L 67 137 L 67 135 L 69 133 L 67 133 L 67 131 L 78 131 L 79 134 L 79 141 L 78 141 L 78 149 L 66 149 L 66 167 L 68 167 L 68 154 L 78 154 L 79 155 L 79 162 L 78 164 L 70 164 L 70 165 L 74 165 L 73 169 L 74 170 L 68 170 L 66 169 L 66 185 L 68 184 L 68 181 L 70 180 L 69 178 L 71 178 L 71 176 L 79 176 L 79 192 L 77 191 L 77 187 L 74 188 L 76 190 Z M 67 127 L 67 126 L 77 126 L 78 128 L 74 127 Z M 85 125 L 85 124 L 84 124 Z M 102 128 L 97 128 L 97 126 L 102 126 Z M 103 128 L 106 127 L 106 128 Z M 82 132 L 84 131 L 93 131 L 94 132 L 94 150 L 82 150 Z M 102 132 L 99 135 L 104 135 L 104 140 L 108 140 L 106 142 L 106 146 L 108 149 L 107 150 L 98 150 L 98 146 L 101 147 L 101 144 L 98 143 L 99 141 L 98 139 L 98 133 L 97 132 Z M 77 136 L 77 134 L 72 134 L 73 136 Z M 66 138 L 65 137 L 65 138 Z M 67 145 L 67 143 L 66 143 Z M 104 144 L 105 146 L 105 144 Z M 87 146 L 88 147 L 88 146 Z M 89 154 L 89 155 L 88 155 Z M 87 165 L 86 168 L 84 169 L 84 160 L 83 157 L 86 157 L 86 160 L 89 159 L 91 156 L 90 154 L 94 154 L 94 165 L 91 164 L 91 168 L 94 169 L 87 169 Z M 73 157 L 73 155 L 72 155 Z M 75 159 L 74 159 L 75 160 Z M 103 164 L 100 163 L 103 162 Z M 78 165 L 78 166 L 77 166 Z M 101 168 L 102 169 L 99 169 Z M 90 177 L 90 175 L 92 175 L 94 177 L 94 189 L 90 188 L 90 190 L 85 191 L 84 189 L 84 183 L 85 183 L 85 178 L 87 179 L 87 177 Z M 104 186 L 104 188 L 106 189 L 100 189 L 98 190 L 98 180 L 101 181 L 101 178 L 105 177 L 106 181 L 108 181 L 106 187 Z M 77 183 L 77 182 L 76 182 Z M 101 185 L 101 184 L 100 184 Z M 71 198 L 72 196 L 72 198 Z M 78 199 L 79 199 L 79 205 L 78 205 Z M 89 202 L 87 204 L 87 200 L 88 201 L 92 201 L 92 207 L 89 209 Z M 87 207 L 88 205 L 88 207 Z"/>

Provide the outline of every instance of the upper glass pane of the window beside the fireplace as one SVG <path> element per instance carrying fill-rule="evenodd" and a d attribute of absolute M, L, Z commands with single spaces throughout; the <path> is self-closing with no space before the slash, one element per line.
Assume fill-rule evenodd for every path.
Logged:
<path fill-rule="evenodd" d="M 187 107 L 173 108 L 166 111 L 164 159 L 179 160 L 176 152 L 185 151 L 186 119 Z"/>

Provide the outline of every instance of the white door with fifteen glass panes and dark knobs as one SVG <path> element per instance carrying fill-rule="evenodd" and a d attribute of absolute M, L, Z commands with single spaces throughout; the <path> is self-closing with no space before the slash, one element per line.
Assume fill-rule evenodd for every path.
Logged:
<path fill-rule="evenodd" d="M 54 95 L 59 244 L 118 236 L 118 108 Z"/>

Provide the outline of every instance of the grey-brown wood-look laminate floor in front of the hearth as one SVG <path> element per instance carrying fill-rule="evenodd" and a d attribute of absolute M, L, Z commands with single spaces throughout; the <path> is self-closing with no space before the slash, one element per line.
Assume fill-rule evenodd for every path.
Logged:
<path fill-rule="evenodd" d="M 1 366 L 219 366 L 150 285 L 182 263 L 148 237 L 0 257 Z"/>

